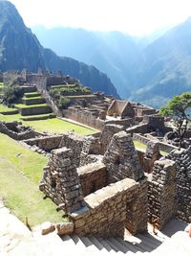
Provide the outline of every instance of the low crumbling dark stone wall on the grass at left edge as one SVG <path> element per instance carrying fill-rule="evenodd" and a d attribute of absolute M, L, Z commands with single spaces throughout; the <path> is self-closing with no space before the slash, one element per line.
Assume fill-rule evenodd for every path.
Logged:
<path fill-rule="evenodd" d="M 10 136 L 14 140 L 26 140 L 31 139 L 37 135 L 37 133 L 31 128 L 19 131 L 17 130 L 17 122 L 3 123 L 0 122 L 0 132 Z M 15 130 L 13 130 L 15 129 Z"/>

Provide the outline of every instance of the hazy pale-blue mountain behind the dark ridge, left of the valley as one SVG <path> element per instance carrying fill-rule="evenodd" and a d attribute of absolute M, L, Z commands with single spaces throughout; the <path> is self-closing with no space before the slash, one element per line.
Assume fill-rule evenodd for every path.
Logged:
<path fill-rule="evenodd" d="M 32 27 L 40 42 L 60 56 L 76 58 L 106 73 L 121 98 L 131 95 L 141 55 L 133 38 L 120 32 Z"/>

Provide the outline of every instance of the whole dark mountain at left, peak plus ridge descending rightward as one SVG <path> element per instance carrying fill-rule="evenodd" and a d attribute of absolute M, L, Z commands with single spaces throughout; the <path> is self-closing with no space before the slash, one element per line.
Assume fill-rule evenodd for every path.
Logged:
<path fill-rule="evenodd" d="M 70 75 L 93 91 L 104 91 L 119 98 L 110 79 L 94 66 L 73 58 L 61 58 L 45 49 L 28 29 L 22 17 L 9 1 L 0 1 L 0 70 L 9 69 L 36 72 L 38 68 Z"/>

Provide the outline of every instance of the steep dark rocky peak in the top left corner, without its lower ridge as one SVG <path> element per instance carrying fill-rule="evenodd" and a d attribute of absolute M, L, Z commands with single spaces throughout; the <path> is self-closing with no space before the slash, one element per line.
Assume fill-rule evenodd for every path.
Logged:
<path fill-rule="evenodd" d="M 0 1 L 0 69 L 44 69 L 42 53 L 43 48 L 14 6 Z"/>

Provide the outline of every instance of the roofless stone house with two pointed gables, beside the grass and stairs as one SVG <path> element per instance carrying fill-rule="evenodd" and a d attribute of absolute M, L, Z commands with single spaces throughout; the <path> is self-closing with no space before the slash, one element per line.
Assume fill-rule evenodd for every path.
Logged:
<path fill-rule="evenodd" d="M 111 155 L 114 148 L 117 154 Z M 147 181 L 131 135 L 115 134 L 95 163 L 76 168 L 74 155 L 66 147 L 53 150 L 40 183 L 40 190 L 74 221 L 74 233 L 122 236 L 125 227 L 132 233 L 146 230 Z"/>

